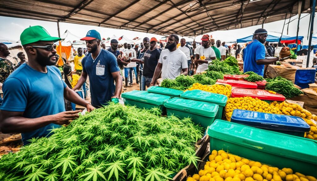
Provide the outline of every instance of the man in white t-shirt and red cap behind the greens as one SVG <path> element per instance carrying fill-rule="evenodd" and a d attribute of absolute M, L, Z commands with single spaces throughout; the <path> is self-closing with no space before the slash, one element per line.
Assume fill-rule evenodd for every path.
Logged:
<path fill-rule="evenodd" d="M 197 49 L 196 51 L 196 61 L 195 63 L 198 63 L 198 67 L 196 70 L 196 73 L 202 73 L 205 70 L 208 69 L 208 63 L 211 62 L 211 60 L 216 59 L 216 53 L 215 51 L 210 47 L 209 42 L 209 35 L 204 35 L 201 38 L 201 47 Z M 201 57 L 204 56 L 205 58 L 202 60 Z"/>

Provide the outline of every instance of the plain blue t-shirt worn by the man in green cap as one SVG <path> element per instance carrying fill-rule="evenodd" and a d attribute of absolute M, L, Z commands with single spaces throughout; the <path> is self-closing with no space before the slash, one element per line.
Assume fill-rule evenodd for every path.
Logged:
<path fill-rule="evenodd" d="M 4 81 L 0 109 L 24 112 L 23 117 L 31 119 L 61 113 L 65 111 L 65 88 L 66 84 L 57 67 L 47 66 L 47 73 L 42 73 L 23 63 Z M 49 124 L 35 131 L 22 133 L 24 145 L 29 143 L 29 139 L 47 136 L 53 127 L 60 125 Z"/>

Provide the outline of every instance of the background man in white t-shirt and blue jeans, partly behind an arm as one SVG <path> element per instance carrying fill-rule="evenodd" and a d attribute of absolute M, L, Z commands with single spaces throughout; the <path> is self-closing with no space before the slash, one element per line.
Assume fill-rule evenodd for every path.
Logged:
<path fill-rule="evenodd" d="M 126 50 L 123 52 L 125 57 L 129 58 L 130 60 L 137 58 L 136 52 L 133 48 L 131 48 L 131 44 L 127 44 Z M 138 82 L 138 75 L 137 75 L 137 63 L 135 61 L 131 61 L 128 65 L 124 66 L 124 77 L 127 86 L 128 76 L 130 72 L 130 85 L 133 85 L 133 72 L 135 74 L 136 81 Z"/>

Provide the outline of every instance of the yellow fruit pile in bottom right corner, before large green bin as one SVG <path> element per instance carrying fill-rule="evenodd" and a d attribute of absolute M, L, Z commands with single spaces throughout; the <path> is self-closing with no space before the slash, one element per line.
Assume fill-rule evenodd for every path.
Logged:
<path fill-rule="evenodd" d="M 279 169 L 250 161 L 223 150 L 213 150 L 204 170 L 188 177 L 187 181 L 316 181 L 290 168 Z"/>

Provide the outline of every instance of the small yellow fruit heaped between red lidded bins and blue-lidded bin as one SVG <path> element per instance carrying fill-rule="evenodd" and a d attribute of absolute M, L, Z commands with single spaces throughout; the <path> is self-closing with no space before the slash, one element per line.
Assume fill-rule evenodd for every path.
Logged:
<path fill-rule="evenodd" d="M 243 109 L 248 111 L 257 111 L 262 113 L 281 114 L 279 108 L 271 106 L 269 103 L 252 97 L 232 97 L 228 99 L 225 106 L 225 115 L 227 121 L 230 121 L 234 109 Z"/>

